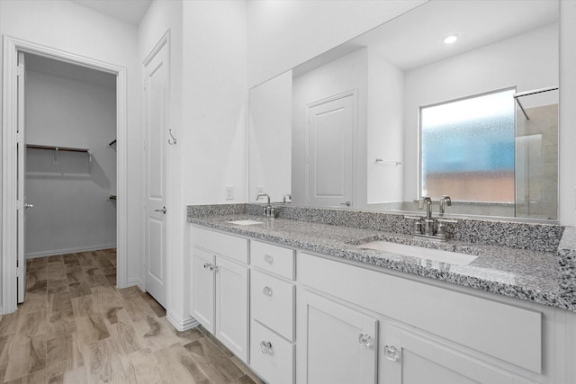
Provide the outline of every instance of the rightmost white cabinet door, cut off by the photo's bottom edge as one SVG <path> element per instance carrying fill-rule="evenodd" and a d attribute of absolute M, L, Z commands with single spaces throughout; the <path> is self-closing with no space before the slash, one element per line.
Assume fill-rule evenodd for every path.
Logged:
<path fill-rule="evenodd" d="M 527 382 L 446 345 L 396 326 L 383 326 L 380 384 Z"/>

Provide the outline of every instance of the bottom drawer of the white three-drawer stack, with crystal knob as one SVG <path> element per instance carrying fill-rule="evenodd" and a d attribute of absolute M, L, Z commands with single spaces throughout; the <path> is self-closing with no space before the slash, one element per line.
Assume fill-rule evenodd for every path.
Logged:
<path fill-rule="evenodd" d="M 292 384 L 294 382 L 294 344 L 275 335 L 257 321 L 253 320 L 251 325 L 250 366 L 267 382 Z M 270 345 L 269 350 L 266 345 Z"/>

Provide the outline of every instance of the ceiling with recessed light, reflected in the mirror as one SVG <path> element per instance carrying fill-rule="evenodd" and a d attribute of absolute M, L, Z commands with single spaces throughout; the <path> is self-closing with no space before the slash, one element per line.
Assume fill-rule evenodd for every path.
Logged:
<path fill-rule="evenodd" d="M 559 3 L 551 0 L 434 0 L 303 63 L 294 76 L 365 47 L 410 71 L 550 25 L 558 16 Z M 452 34 L 459 40 L 446 45 Z"/>

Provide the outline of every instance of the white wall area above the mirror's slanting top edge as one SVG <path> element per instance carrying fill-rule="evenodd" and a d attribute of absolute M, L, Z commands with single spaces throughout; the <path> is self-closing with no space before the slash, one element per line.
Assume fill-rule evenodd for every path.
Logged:
<path fill-rule="evenodd" d="M 247 2 L 248 85 L 260 84 L 426 1 Z"/>

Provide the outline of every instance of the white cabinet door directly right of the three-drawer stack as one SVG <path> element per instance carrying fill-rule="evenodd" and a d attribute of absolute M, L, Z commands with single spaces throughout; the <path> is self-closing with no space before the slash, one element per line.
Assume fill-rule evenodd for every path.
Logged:
<path fill-rule="evenodd" d="M 298 382 L 374 384 L 378 321 L 310 291 L 300 294 Z"/>

